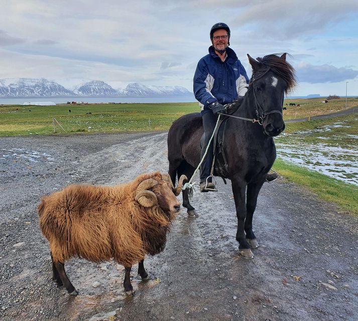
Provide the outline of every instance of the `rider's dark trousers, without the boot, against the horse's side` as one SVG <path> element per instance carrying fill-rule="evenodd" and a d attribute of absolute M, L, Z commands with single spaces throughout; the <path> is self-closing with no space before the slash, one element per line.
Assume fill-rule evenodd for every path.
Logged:
<path fill-rule="evenodd" d="M 206 112 L 205 114 L 201 115 L 203 119 L 203 127 L 204 127 L 204 134 L 201 138 L 201 158 L 203 158 L 206 147 L 209 143 L 209 140 L 212 136 L 212 133 L 214 131 L 216 122 L 217 122 L 217 116 L 212 113 L 210 110 L 209 112 Z M 206 178 L 210 175 L 211 165 L 212 165 L 212 159 L 213 159 L 213 140 L 210 143 L 210 147 L 207 151 L 206 157 L 201 163 L 200 166 L 200 183 L 204 182 Z M 209 182 L 211 182 L 211 178 L 208 179 Z"/>

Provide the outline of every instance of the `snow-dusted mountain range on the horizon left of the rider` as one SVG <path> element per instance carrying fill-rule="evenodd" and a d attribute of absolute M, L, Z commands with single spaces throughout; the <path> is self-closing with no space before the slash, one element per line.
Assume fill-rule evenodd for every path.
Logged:
<path fill-rule="evenodd" d="M 35 97 L 192 97 L 182 86 L 148 86 L 139 82 L 126 88 L 112 88 L 101 80 L 90 80 L 66 88 L 46 78 L 0 79 L 0 98 Z"/>

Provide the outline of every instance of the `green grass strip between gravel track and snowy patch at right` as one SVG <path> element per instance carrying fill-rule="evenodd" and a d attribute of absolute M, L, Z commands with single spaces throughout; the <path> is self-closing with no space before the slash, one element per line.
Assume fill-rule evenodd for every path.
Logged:
<path fill-rule="evenodd" d="M 340 180 L 310 171 L 280 159 L 275 161 L 273 169 L 288 181 L 300 184 L 317 194 L 325 201 L 333 202 L 343 210 L 358 217 L 358 187 Z"/>

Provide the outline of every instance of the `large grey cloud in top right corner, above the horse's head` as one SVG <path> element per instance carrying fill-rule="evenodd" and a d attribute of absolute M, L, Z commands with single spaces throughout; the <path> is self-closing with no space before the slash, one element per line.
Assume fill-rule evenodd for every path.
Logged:
<path fill-rule="evenodd" d="M 358 12 L 355 0 L 257 1 L 237 11 L 230 24 L 246 26 L 258 39 L 292 38 L 314 35 L 351 20 Z"/>

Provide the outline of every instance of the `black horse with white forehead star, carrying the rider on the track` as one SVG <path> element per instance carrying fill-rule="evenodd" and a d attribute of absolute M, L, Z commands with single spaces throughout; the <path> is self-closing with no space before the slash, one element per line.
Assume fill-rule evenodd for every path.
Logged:
<path fill-rule="evenodd" d="M 235 102 L 240 106 L 232 115 L 259 122 L 230 117 L 225 127 L 223 150 L 228 165 L 226 178 L 231 180 L 235 200 L 239 252 L 245 258 L 253 258 L 251 248 L 258 247 L 252 229 L 257 197 L 276 158 L 273 137 L 285 129 L 282 119 L 284 94 L 294 87 L 296 80 L 294 68 L 286 61 L 286 53 L 257 60 L 248 57 L 253 76 L 248 92 Z M 171 126 L 168 160 L 173 183 L 176 176 L 184 174 L 189 178 L 194 173 L 200 162 L 202 135 L 202 119 L 198 113 L 185 115 Z M 183 191 L 183 206 L 189 215 L 196 215 L 189 203 L 188 189 Z"/>

